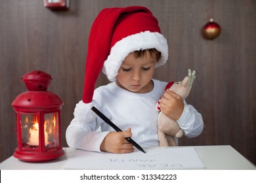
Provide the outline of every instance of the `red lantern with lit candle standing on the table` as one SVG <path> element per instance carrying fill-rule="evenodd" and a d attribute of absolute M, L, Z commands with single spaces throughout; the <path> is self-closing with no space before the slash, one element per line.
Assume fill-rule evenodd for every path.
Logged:
<path fill-rule="evenodd" d="M 14 157 L 23 161 L 49 161 L 64 154 L 60 135 L 62 100 L 47 88 L 51 75 L 32 71 L 23 76 L 27 92 L 12 102 L 16 112 L 17 148 Z"/>

